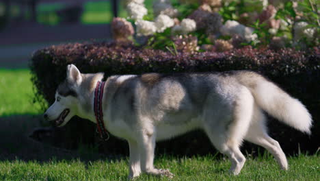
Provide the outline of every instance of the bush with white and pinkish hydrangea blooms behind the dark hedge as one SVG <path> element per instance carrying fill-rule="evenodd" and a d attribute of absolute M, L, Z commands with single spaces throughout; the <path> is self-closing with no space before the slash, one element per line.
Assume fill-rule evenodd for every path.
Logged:
<path fill-rule="evenodd" d="M 154 49 L 166 50 L 176 36 L 188 34 L 197 38 L 198 51 L 227 44 L 232 46 L 219 51 L 243 45 L 272 49 L 319 45 L 319 3 L 315 0 L 155 0 L 150 12 L 144 0 L 127 0 L 125 5 L 128 19 L 136 25 L 136 42 Z"/>

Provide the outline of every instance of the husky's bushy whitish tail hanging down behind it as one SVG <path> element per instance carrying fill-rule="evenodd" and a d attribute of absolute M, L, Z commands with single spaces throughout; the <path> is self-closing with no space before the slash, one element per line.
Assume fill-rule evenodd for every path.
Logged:
<path fill-rule="evenodd" d="M 312 117 L 298 100 L 258 73 L 237 73 L 237 79 L 252 92 L 259 107 L 293 128 L 311 134 Z"/>

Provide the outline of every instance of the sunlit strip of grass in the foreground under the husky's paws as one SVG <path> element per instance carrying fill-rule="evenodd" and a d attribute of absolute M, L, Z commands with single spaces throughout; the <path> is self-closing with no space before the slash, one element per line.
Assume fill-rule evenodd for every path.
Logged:
<path fill-rule="evenodd" d="M 127 159 L 1 161 L 1 180 L 126 180 Z M 213 156 L 176 158 L 164 156 L 155 160 L 156 167 L 170 169 L 172 180 L 320 180 L 319 156 L 289 158 L 289 171 L 278 169 L 276 161 L 268 158 L 249 158 L 239 176 L 230 176 L 228 160 L 217 160 Z M 136 180 L 170 180 L 142 174 Z"/>

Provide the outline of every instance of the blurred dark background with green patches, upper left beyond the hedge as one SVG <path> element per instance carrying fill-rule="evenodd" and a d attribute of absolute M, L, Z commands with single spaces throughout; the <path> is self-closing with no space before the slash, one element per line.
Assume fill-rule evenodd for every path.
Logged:
<path fill-rule="evenodd" d="M 27 67 L 37 49 L 111 38 L 114 16 L 126 17 L 123 1 L 0 0 L 0 68 Z M 152 0 L 145 2 L 151 6 Z"/>

